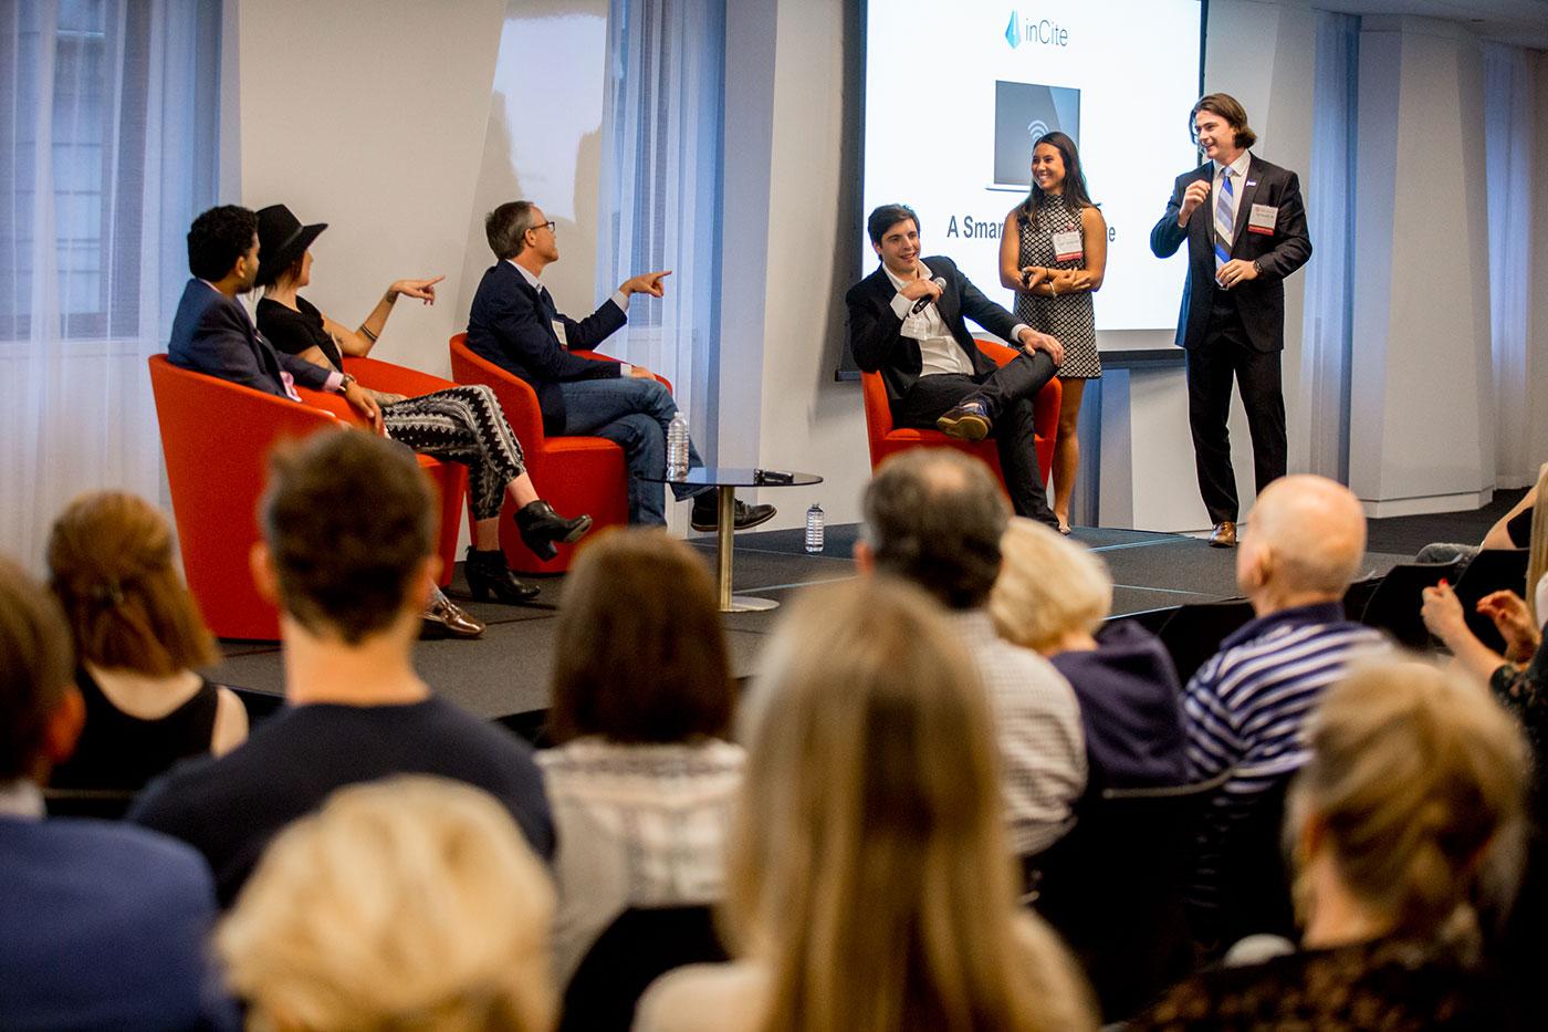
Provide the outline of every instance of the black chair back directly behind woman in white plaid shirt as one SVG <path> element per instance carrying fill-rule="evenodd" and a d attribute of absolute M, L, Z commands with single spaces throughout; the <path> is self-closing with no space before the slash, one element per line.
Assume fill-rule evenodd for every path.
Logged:
<path fill-rule="evenodd" d="M 598 937 L 565 989 L 560 1032 L 628 1032 L 646 989 L 687 964 L 728 959 L 709 906 L 625 910 Z"/>

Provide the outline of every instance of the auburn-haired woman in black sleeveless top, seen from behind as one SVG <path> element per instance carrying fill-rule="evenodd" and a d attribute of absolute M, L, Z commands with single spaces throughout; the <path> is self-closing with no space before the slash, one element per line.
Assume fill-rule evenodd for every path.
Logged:
<path fill-rule="evenodd" d="M 241 700 L 194 671 L 220 654 L 172 564 L 159 510 L 119 491 L 76 499 L 54 521 L 48 569 L 87 705 L 54 786 L 138 790 L 178 759 L 241 744 Z"/>

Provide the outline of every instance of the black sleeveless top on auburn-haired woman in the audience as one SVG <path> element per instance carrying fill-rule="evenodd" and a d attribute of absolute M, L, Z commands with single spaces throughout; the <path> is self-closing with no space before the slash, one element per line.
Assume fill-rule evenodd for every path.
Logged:
<path fill-rule="evenodd" d="M 158 721 L 119 710 L 84 666 L 76 671 L 76 685 L 87 703 L 87 724 L 74 755 L 54 769 L 51 787 L 138 792 L 176 761 L 209 753 L 220 702 L 209 680 L 201 679 L 187 702 Z"/>

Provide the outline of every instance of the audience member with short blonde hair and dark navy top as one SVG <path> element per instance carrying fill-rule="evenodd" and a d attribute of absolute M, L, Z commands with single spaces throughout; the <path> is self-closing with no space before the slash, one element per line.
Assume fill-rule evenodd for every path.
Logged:
<path fill-rule="evenodd" d="M 1048 657 L 1074 688 L 1093 789 L 1187 781 L 1176 668 L 1138 623 L 1104 624 L 1113 578 L 1102 561 L 1020 516 L 1000 555 L 989 615 L 1000 637 Z"/>

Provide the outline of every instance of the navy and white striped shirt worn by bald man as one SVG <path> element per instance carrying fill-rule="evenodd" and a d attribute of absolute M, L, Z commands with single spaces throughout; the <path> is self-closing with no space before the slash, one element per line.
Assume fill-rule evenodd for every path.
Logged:
<path fill-rule="evenodd" d="M 1183 690 L 1183 730 L 1195 781 L 1231 772 L 1211 800 L 1190 899 L 1218 906 L 1223 841 L 1254 800 L 1307 762 L 1302 728 L 1322 691 L 1348 666 L 1387 648 L 1344 618 L 1342 603 L 1283 609 L 1249 621 L 1220 645 Z"/>

